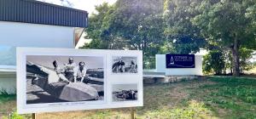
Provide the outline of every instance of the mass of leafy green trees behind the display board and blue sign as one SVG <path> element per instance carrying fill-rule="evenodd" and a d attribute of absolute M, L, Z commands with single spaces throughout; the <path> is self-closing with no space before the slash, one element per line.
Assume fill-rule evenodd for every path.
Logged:
<path fill-rule="evenodd" d="M 256 49 L 255 6 L 253 0 L 102 3 L 85 29 L 86 38 L 92 41 L 82 48 L 143 50 L 143 68 L 154 68 L 155 54 L 193 54 L 201 48 L 218 48 L 229 57 L 224 60 L 226 68 L 233 67 L 239 74 L 239 70 L 250 69 L 247 54 Z"/>

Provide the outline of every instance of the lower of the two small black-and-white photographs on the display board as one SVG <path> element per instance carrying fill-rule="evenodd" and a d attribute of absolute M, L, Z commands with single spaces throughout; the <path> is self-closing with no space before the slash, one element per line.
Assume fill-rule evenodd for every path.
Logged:
<path fill-rule="evenodd" d="M 137 84 L 113 84 L 112 100 L 113 102 L 137 100 Z"/>

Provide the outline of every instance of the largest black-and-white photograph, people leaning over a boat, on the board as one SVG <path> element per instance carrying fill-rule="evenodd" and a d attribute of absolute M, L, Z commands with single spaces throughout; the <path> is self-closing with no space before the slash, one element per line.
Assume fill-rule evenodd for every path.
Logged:
<path fill-rule="evenodd" d="M 26 104 L 103 99 L 102 56 L 26 56 Z"/>

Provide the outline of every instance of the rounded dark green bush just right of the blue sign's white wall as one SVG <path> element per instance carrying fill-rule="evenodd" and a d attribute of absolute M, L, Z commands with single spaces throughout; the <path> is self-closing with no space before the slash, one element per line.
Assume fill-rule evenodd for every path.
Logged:
<path fill-rule="evenodd" d="M 221 51 L 211 50 L 203 57 L 203 71 L 205 73 L 214 71 L 215 74 L 222 74 L 224 64 L 224 53 Z"/>

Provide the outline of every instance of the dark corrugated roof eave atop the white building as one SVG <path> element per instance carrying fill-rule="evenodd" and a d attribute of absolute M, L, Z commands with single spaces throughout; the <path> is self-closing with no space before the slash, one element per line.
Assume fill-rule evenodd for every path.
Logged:
<path fill-rule="evenodd" d="M 34 0 L 0 0 L 0 20 L 53 26 L 87 27 L 88 13 Z"/>

